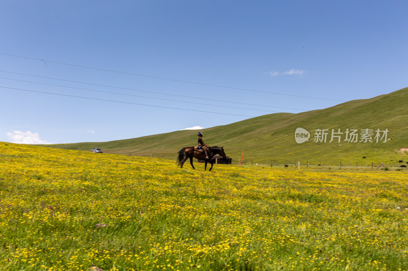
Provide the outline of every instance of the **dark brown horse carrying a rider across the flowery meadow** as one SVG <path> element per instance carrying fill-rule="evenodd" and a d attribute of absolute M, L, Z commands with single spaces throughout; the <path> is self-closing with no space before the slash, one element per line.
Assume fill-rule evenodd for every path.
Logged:
<path fill-rule="evenodd" d="M 207 154 L 208 154 L 208 159 L 206 159 L 206 154 L 204 152 L 195 149 L 194 146 L 184 147 L 180 150 L 179 155 L 177 156 L 177 164 L 180 166 L 180 168 L 182 168 L 184 162 L 187 161 L 187 158 L 190 158 L 190 164 L 193 167 L 193 169 L 195 169 L 195 167 L 193 166 L 193 157 L 194 157 L 194 158 L 205 161 L 206 165 L 204 167 L 204 170 L 207 170 L 207 163 L 210 162 L 211 167 L 209 171 L 211 171 L 211 169 L 213 169 L 213 164 L 214 164 L 211 158 L 213 158 L 214 155 L 219 154 L 223 158 L 226 158 L 223 147 L 217 147 L 217 146 L 209 147 Z"/>

